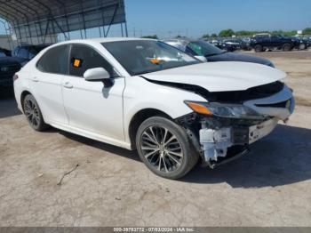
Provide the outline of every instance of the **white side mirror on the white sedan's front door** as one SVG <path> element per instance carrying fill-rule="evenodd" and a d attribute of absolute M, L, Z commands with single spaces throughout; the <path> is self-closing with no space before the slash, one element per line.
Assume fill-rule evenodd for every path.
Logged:
<path fill-rule="evenodd" d="M 101 81 L 105 87 L 111 87 L 113 85 L 113 80 L 105 68 L 89 68 L 84 72 L 84 79 L 89 82 Z"/>

